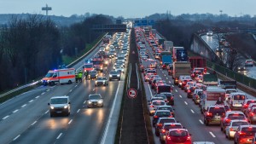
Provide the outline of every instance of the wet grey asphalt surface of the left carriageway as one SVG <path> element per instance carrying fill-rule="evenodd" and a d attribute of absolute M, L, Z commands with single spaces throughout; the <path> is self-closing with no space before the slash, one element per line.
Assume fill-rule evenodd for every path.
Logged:
<path fill-rule="evenodd" d="M 84 60 L 92 58 L 97 51 L 98 48 Z M 84 60 L 73 67 L 80 69 Z M 107 70 L 108 72 L 112 70 L 112 64 Z M 99 76 L 108 78 L 107 70 Z M 105 132 L 105 129 L 113 129 L 112 131 L 115 132 L 116 127 L 109 128 L 109 118 L 115 114 L 112 107 L 120 105 L 121 99 L 115 97 L 117 94 L 122 95 L 124 77 L 125 75 L 122 75 L 120 81 L 109 82 L 107 87 L 95 87 L 94 80 L 85 79 L 82 83 L 40 86 L 4 102 L 0 105 L 0 143 L 108 143 L 106 140 L 108 131 Z M 93 93 L 102 95 L 104 107 L 86 107 L 85 101 L 88 95 Z M 70 96 L 69 117 L 49 117 L 47 104 L 50 97 L 55 95 Z M 115 112 L 119 114 L 119 111 Z M 118 115 L 116 117 L 119 118 Z"/>

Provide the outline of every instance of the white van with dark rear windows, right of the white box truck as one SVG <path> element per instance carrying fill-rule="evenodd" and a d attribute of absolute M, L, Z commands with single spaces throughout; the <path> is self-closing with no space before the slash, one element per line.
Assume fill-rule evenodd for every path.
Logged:
<path fill-rule="evenodd" d="M 241 92 L 230 93 L 228 105 L 231 109 L 241 109 L 243 102 L 247 99 L 247 95 Z"/>

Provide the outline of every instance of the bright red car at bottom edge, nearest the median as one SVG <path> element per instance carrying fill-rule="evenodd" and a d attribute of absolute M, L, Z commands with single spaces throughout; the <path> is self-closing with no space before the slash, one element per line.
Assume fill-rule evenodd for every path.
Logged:
<path fill-rule="evenodd" d="M 166 135 L 166 144 L 192 144 L 189 131 L 186 129 L 170 129 Z"/>

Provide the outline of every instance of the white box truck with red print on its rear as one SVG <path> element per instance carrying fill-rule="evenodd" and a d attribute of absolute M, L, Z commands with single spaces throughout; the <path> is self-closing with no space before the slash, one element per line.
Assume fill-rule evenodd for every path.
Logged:
<path fill-rule="evenodd" d="M 201 98 L 201 112 L 203 113 L 207 110 L 207 107 L 215 105 L 216 101 L 218 101 L 218 97 L 221 97 L 221 100 L 224 101 L 225 92 L 225 89 L 216 86 L 207 87 Z"/>

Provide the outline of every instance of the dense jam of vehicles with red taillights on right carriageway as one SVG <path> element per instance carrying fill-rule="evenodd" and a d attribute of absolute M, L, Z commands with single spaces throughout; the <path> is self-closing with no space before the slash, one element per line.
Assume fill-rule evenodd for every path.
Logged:
<path fill-rule="evenodd" d="M 252 95 L 236 89 L 234 80 L 219 79 L 216 72 L 207 69 L 205 58 L 188 55 L 186 49 L 173 46 L 172 41 L 161 38 L 151 26 L 136 27 L 135 32 L 140 71 L 145 89 L 149 91 L 146 95 L 150 95 L 147 95 L 148 114 L 154 141 L 214 143 L 205 138 L 193 141 L 191 130 L 179 123 L 182 119 L 176 119 L 179 113 L 176 113 L 175 100 L 178 95 L 181 97 L 177 94 L 177 89 L 181 89 L 185 98 L 198 106 L 203 118 L 201 124 L 219 126 L 219 133 L 222 131 L 227 141 L 235 144 L 256 143 L 256 125 L 253 125 L 256 122 L 256 99 Z"/>

